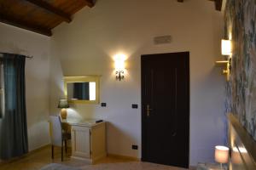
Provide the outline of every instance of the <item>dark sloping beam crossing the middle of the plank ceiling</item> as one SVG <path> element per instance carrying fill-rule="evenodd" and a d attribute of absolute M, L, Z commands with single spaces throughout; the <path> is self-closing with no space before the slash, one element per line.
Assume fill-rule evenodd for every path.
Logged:
<path fill-rule="evenodd" d="M 68 23 L 72 21 L 71 16 L 69 14 L 64 13 L 59 8 L 53 7 L 49 3 L 45 3 L 42 0 L 26 0 L 26 1 L 29 2 L 29 3 L 32 3 L 32 4 L 36 5 L 36 6 L 38 6 L 39 8 L 44 8 L 44 10 L 48 11 L 51 14 L 57 15 L 62 20 L 65 20 Z"/>

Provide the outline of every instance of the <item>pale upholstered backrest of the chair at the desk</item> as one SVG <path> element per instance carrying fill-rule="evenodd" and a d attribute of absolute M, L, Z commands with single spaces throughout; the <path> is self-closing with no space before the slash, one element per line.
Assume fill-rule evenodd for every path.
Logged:
<path fill-rule="evenodd" d="M 55 146 L 61 146 L 62 143 L 62 129 L 60 116 L 49 116 L 50 122 L 50 140 L 51 144 Z"/>

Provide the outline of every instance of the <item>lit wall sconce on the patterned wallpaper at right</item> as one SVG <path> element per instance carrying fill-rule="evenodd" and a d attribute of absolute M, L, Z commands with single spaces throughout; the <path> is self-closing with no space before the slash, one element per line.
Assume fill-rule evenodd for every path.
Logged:
<path fill-rule="evenodd" d="M 228 55 L 228 59 L 216 61 L 216 64 L 225 65 L 223 74 L 226 75 L 227 81 L 230 81 L 230 71 L 231 71 L 231 55 L 232 55 L 232 42 L 231 40 L 221 40 L 221 54 Z"/>

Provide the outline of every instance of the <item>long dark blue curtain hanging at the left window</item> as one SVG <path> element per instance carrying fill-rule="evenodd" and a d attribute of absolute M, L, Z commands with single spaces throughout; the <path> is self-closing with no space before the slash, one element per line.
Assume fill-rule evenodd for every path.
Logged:
<path fill-rule="evenodd" d="M 0 159 L 22 156 L 28 151 L 26 127 L 25 60 L 2 54 L 3 116 L 0 122 Z"/>

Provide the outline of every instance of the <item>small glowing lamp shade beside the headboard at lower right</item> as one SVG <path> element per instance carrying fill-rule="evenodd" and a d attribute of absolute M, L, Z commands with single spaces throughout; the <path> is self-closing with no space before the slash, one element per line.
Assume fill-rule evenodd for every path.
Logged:
<path fill-rule="evenodd" d="M 215 146 L 215 161 L 227 163 L 229 161 L 229 148 L 225 146 Z"/>

